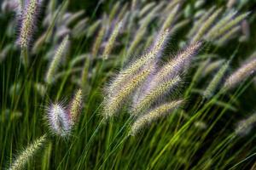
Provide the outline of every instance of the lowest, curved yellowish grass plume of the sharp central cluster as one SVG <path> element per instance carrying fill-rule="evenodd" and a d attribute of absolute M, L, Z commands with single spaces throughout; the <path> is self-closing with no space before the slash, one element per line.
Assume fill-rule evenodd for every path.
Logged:
<path fill-rule="evenodd" d="M 130 135 L 136 135 L 140 129 L 150 124 L 151 122 L 154 122 L 160 117 L 170 115 L 174 109 L 177 109 L 182 104 L 183 100 L 175 100 L 170 103 L 162 104 L 153 110 L 148 111 L 147 114 L 138 117 L 137 120 L 132 124 Z"/>

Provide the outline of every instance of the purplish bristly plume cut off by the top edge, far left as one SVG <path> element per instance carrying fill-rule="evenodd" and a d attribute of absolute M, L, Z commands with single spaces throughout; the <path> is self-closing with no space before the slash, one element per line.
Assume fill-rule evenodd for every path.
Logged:
<path fill-rule="evenodd" d="M 41 7 L 43 0 L 30 0 L 21 14 L 20 37 L 18 43 L 20 48 L 27 49 L 32 39 L 32 34 L 35 30 L 38 10 Z"/>

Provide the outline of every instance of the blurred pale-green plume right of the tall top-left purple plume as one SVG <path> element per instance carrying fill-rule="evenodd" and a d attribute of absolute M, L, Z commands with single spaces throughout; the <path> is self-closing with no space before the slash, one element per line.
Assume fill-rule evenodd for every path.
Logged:
<path fill-rule="evenodd" d="M 66 36 L 62 40 L 60 46 L 57 48 L 55 52 L 55 56 L 52 59 L 49 65 L 49 69 L 46 73 L 45 82 L 49 84 L 54 82 L 55 71 L 57 70 L 58 65 L 61 63 L 61 58 L 67 52 L 67 47 L 68 47 L 68 36 Z"/>

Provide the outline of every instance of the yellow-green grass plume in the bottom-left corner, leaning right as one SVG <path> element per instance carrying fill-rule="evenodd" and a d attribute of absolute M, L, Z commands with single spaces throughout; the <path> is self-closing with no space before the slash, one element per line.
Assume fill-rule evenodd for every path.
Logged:
<path fill-rule="evenodd" d="M 25 150 L 22 150 L 20 154 L 15 158 L 15 161 L 11 163 L 9 170 L 23 169 L 26 166 L 27 161 L 30 161 L 38 150 L 40 150 L 47 141 L 47 135 L 35 140 L 32 144 L 28 145 Z"/>

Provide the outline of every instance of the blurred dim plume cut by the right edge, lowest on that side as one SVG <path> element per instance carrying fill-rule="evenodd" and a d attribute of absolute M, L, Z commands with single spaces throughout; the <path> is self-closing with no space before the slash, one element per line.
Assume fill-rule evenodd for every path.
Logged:
<path fill-rule="evenodd" d="M 250 133 L 253 126 L 256 124 L 256 113 L 247 117 L 244 120 L 241 120 L 237 123 L 235 133 L 236 135 L 245 136 Z"/>

